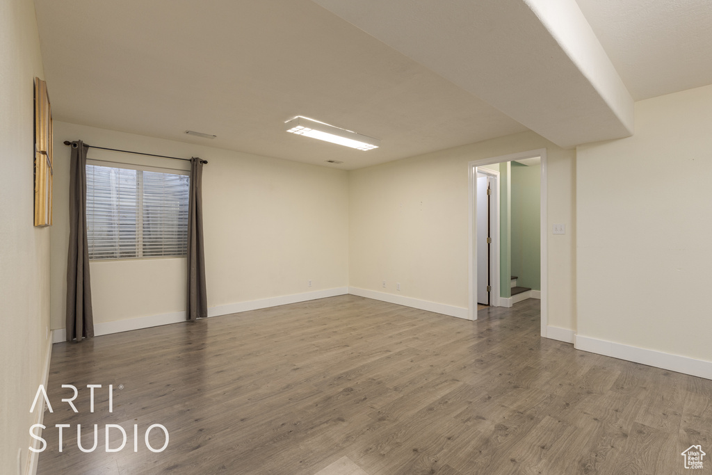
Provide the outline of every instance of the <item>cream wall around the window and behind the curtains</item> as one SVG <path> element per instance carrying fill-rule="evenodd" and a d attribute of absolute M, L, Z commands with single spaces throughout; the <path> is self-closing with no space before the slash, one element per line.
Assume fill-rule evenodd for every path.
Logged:
<path fill-rule="evenodd" d="M 347 172 L 56 122 L 52 328 L 65 326 L 70 149 L 64 140 L 209 161 L 203 175 L 209 308 L 348 285 Z M 188 164 L 95 149 L 88 157 Z M 95 261 L 90 271 L 95 323 L 184 310 L 184 259 Z"/>

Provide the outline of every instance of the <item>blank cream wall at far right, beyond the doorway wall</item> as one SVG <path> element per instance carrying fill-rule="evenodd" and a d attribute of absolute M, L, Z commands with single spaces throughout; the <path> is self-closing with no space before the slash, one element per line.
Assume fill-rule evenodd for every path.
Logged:
<path fill-rule="evenodd" d="M 578 334 L 712 361 L 712 86 L 577 148 Z"/>

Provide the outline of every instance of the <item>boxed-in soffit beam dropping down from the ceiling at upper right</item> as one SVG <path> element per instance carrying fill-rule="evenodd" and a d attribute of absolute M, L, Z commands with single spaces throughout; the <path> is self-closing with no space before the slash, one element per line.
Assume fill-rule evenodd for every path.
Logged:
<path fill-rule="evenodd" d="M 632 133 L 633 100 L 573 0 L 315 0 L 561 147 Z"/>

